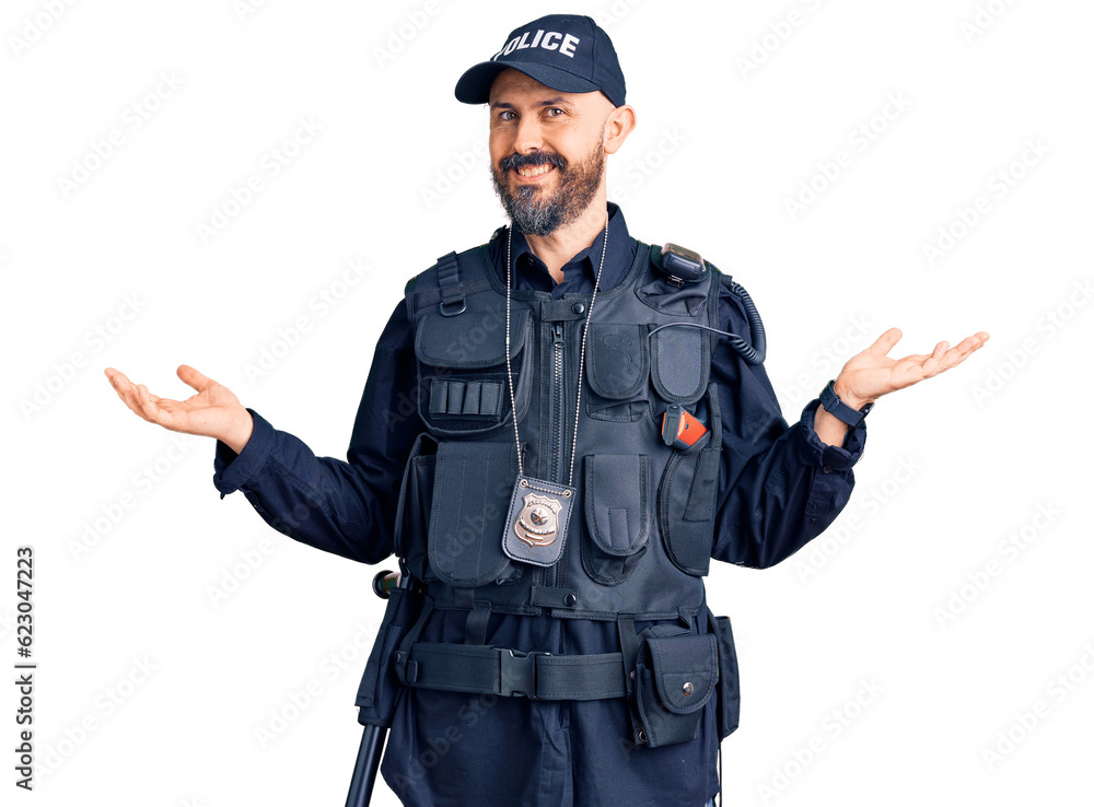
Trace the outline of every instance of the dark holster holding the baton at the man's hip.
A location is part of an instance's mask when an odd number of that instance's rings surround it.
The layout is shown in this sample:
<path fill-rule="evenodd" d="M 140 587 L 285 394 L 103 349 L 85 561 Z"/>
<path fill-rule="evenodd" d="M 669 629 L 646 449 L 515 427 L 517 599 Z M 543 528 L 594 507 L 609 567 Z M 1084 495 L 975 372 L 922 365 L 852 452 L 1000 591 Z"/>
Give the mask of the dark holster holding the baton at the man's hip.
<path fill-rule="evenodd" d="M 395 699 L 403 685 L 395 676 L 395 651 L 403 636 L 414 625 L 421 612 L 422 596 L 409 588 L 395 588 L 387 600 L 387 610 L 372 646 L 369 663 L 357 690 L 358 723 L 391 726 Z"/>

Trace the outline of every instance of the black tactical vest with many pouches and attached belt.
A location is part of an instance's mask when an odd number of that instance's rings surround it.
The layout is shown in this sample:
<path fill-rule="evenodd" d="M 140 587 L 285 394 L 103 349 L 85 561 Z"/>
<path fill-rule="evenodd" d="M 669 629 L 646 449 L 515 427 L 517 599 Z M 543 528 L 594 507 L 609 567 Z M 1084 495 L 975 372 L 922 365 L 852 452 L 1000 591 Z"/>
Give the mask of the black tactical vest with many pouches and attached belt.
<path fill-rule="evenodd" d="M 449 645 L 455 650 L 445 651 L 415 644 L 417 632 L 409 623 L 420 625 L 430 609 L 470 613 L 488 603 L 494 612 L 621 621 L 620 653 L 604 654 L 606 666 L 589 675 L 613 679 L 610 693 L 633 702 L 635 741 L 690 739 L 698 711 L 719 678 L 720 734 L 736 726 L 729 620 L 710 615 L 701 580 L 710 562 L 722 442 L 710 378 L 718 337 L 697 327 L 660 327 L 686 323 L 717 329 L 721 274 L 708 264 L 698 282 L 674 284 L 656 266 L 659 256 L 659 247 L 639 243 L 622 281 L 597 292 L 591 323 L 591 294 L 552 300 L 548 292 L 514 290 L 509 318 L 512 395 L 505 367 L 505 285 L 488 247 L 444 256 L 408 283 L 417 406 L 426 431 L 404 475 L 395 546 L 426 613 L 407 603 L 388 608 L 370 660 L 372 678 L 366 669 L 358 698 L 361 722 L 384 720 L 380 701 L 391 697 L 376 685 L 377 678 L 381 685 L 392 682 L 385 677 L 388 665 L 404 686 L 486 687 L 500 694 L 575 699 L 606 691 L 556 676 L 554 690 L 544 685 L 533 693 L 526 690 L 538 686 L 535 670 L 507 655 L 499 674 L 499 662 L 490 655 L 497 648 L 481 648 L 479 659 L 470 657 L 480 652 L 475 647 Z M 561 558 L 546 568 L 514 561 L 502 549 L 517 473 L 513 419 L 520 426 L 524 473 L 567 482 L 586 329 L 573 457 L 577 496 Z M 683 451 L 662 437 L 662 418 L 672 405 L 707 429 Z M 409 601 L 409 595 L 397 596 Z M 653 632 L 664 635 L 635 636 L 636 621 L 653 620 L 675 620 L 675 625 Z M 469 618 L 468 624 L 473 622 Z M 521 656 L 522 648 L 510 650 Z M 662 658 L 659 669 L 656 656 Z M 531 666 L 543 675 L 560 658 L 533 659 Z M 643 675 L 672 680 L 657 680 L 664 702 L 647 704 L 644 711 Z M 680 694 L 680 687 L 688 691 Z M 654 689 L 651 678 L 647 699 Z"/>

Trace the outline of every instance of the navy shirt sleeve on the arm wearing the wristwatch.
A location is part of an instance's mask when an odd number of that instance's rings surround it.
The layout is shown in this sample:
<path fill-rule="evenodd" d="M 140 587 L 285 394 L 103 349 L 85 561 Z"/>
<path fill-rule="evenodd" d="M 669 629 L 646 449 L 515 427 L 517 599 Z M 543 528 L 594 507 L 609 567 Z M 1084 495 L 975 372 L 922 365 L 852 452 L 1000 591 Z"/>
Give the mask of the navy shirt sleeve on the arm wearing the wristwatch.
<path fill-rule="evenodd" d="M 724 330 L 749 332 L 740 301 L 724 283 L 719 316 Z M 865 444 L 865 423 L 849 429 L 842 446 L 826 445 L 813 428 L 821 404 L 814 398 L 801 420 L 789 425 L 767 371 L 747 364 L 724 339 L 715 348 L 711 372 L 722 420 L 711 557 L 771 566 L 819 535 L 847 504 L 854 487 L 851 467 Z"/>

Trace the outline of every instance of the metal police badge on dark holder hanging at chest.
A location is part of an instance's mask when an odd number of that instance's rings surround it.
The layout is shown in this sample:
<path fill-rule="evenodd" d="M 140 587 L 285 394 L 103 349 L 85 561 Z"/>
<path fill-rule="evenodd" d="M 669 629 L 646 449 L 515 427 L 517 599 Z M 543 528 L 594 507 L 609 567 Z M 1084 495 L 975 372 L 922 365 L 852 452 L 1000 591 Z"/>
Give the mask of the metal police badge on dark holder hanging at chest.
<path fill-rule="evenodd" d="M 505 554 L 537 566 L 557 563 L 577 492 L 560 482 L 517 476 L 501 542 Z"/>

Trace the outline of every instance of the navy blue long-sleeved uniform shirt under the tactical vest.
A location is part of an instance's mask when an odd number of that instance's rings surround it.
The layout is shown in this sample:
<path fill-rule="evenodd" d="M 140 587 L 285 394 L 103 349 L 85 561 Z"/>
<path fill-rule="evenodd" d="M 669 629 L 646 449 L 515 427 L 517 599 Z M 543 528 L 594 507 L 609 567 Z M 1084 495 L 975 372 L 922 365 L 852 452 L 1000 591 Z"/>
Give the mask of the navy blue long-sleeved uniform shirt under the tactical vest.
<path fill-rule="evenodd" d="M 601 289 L 622 280 L 637 249 L 622 212 L 614 203 L 608 211 Z M 504 231 L 494 235 L 489 255 L 504 281 Z M 514 232 L 514 286 L 555 297 L 592 292 L 603 239 L 602 232 L 556 283 Z M 743 309 L 724 284 L 719 319 L 722 330 L 748 338 Z M 847 504 L 865 425 L 848 430 L 841 446 L 822 443 L 813 429 L 818 398 L 789 425 L 764 366 L 745 363 L 724 338 L 714 348 L 711 378 L 723 435 L 711 557 L 769 566 L 818 535 Z M 236 455 L 217 443 L 213 483 L 222 498 L 242 490 L 270 526 L 295 540 L 379 563 L 394 552 L 403 470 L 423 431 L 415 386 L 414 334 L 399 301 L 376 343 L 346 461 L 316 457 L 249 410 L 254 432 L 243 451 Z M 434 611 L 420 640 L 463 642 L 464 624 L 463 613 Z M 616 630 L 614 622 L 493 613 L 487 644 L 610 653 L 619 650 Z M 408 805 L 701 805 L 718 791 L 714 706 L 711 699 L 691 742 L 639 748 L 625 740 L 630 728 L 621 699 L 484 700 L 412 689 L 396 709 L 382 772 Z"/>

